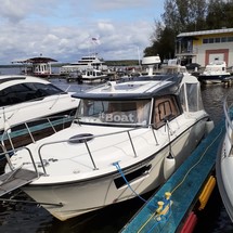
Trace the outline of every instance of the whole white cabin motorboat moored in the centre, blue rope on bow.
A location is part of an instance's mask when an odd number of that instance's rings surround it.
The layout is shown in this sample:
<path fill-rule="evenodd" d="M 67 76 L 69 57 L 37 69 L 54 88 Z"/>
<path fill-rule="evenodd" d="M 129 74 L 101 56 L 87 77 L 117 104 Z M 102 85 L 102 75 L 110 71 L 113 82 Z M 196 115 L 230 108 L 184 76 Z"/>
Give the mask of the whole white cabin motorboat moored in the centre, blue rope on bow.
<path fill-rule="evenodd" d="M 158 187 L 212 124 L 191 75 L 130 77 L 74 96 L 70 127 L 11 152 L 5 167 L 36 170 L 22 190 L 62 221 Z"/>

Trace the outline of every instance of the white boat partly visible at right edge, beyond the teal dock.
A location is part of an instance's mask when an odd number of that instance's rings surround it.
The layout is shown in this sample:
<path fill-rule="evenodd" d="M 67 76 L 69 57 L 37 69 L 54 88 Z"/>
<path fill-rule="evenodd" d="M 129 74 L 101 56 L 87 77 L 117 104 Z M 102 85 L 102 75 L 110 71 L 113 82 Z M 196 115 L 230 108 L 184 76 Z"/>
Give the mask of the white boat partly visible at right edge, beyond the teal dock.
<path fill-rule="evenodd" d="M 216 176 L 222 202 L 233 222 L 233 108 L 224 100 L 225 134 L 216 159 Z"/>

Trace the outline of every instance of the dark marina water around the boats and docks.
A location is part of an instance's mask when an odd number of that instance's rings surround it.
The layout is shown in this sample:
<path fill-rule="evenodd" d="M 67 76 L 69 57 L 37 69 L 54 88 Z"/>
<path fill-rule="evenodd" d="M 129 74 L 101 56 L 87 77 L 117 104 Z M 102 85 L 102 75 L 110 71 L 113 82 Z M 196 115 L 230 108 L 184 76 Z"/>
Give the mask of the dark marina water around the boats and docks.
<path fill-rule="evenodd" d="M 1 74 L 18 74 L 17 69 L 12 72 L 9 69 L 1 70 Z M 68 88 L 69 91 L 80 91 L 89 88 L 88 86 L 79 86 L 76 83 L 66 83 L 65 80 L 51 80 L 63 90 Z M 206 86 L 202 89 L 204 106 L 216 124 L 223 116 L 222 103 L 228 92 L 233 93 L 233 87 L 225 88 L 221 85 Z M 12 193 L 7 198 L 12 197 Z M 147 195 L 150 197 L 150 195 Z M 18 193 L 17 198 L 28 199 L 24 193 Z M 94 198 L 94 194 L 93 194 Z M 133 215 L 142 207 L 141 199 L 131 199 L 122 204 L 109 206 L 100 211 L 88 213 L 78 218 L 61 222 L 48 213 L 43 208 L 36 205 L 21 203 L 0 203 L 0 232 L 2 233 L 115 233 L 118 232 L 133 217 Z M 233 223 L 231 222 L 221 197 L 216 186 L 210 200 L 206 208 L 198 212 L 198 224 L 195 233 L 225 233 L 233 232 Z"/>

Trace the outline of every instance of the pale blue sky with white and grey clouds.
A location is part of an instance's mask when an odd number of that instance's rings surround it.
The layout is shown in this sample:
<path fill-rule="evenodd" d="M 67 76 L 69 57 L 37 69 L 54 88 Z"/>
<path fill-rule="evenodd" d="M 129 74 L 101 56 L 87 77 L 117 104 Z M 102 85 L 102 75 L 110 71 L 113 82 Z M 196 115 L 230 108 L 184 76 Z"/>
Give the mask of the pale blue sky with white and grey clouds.
<path fill-rule="evenodd" d="M 92 53 L 138 60 L 163 13 L 164 0 L 1 0 L 0 64 L 35 56 L 69 63 Z"/>

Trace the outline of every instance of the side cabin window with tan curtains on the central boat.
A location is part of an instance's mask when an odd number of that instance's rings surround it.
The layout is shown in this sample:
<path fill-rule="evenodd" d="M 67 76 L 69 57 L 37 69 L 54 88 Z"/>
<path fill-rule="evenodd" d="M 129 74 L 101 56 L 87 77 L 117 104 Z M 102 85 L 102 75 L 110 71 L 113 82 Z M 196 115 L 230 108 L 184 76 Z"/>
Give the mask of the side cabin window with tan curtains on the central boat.
<path fill-rule="evenodd" d="M 155 108 L 153 115 L 153 124 L 155 128 L 164 126 L 166 119 L 171 120 L 179 115 L 180 109 L 173 95 L 167 95 L 155 100 Z"/>

